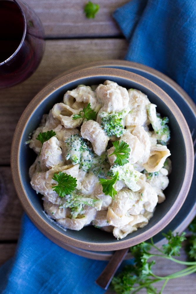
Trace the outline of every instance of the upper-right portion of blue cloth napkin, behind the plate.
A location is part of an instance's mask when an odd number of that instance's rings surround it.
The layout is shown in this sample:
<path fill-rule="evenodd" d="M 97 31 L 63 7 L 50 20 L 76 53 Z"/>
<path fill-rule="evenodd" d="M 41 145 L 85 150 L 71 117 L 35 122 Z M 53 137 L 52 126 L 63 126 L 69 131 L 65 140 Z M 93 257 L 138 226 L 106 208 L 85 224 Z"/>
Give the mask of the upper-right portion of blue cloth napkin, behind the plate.
<path fill-rule="evenodd" d="M 129 42 L 125 59 L 166 74 L 196 103 L 196 1 L 132 0 L 113 17 Z"/>

